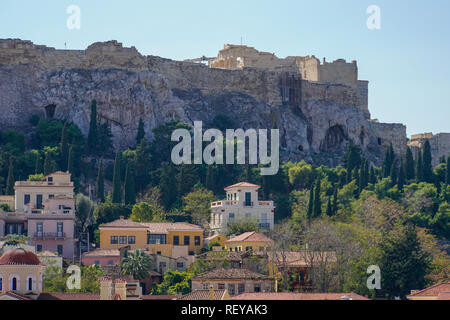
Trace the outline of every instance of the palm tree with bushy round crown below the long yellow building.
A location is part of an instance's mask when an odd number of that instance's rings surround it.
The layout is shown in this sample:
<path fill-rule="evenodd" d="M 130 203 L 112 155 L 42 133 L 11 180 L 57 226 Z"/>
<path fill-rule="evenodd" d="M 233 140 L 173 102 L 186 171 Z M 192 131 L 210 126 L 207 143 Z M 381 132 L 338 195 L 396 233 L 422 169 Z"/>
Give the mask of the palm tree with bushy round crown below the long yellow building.
<path fill-rule="evenodd" d="M 143 250 L 128 253 L 122 259 L 121 271 L 122 275 L 133 276 L 136 280 L 147 279 L 149 272 L 152 270 L 152 258 Z"/>

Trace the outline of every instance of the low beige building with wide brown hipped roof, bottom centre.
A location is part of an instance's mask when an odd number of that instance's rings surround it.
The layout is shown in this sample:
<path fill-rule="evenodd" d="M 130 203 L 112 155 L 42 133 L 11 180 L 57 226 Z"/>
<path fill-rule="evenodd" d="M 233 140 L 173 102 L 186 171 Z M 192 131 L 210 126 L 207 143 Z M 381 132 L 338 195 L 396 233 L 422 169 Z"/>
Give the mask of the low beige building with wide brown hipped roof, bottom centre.
<path fill-rule="evenodd" d="M 214 269 L 195 276 L 192 280 L 192 291 L 195 290 L 228 290 L 230 295 L 244 292 L 272 292 L 274 280 L 269 276 L 252 272 L 243 268 Z"/>

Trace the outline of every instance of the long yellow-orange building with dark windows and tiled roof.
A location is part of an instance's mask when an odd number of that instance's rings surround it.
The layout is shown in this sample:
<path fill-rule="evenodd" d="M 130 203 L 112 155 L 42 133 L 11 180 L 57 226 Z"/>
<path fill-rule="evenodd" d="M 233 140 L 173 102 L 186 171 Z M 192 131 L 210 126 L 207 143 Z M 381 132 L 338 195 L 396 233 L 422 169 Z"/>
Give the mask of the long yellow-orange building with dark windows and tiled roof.
<path fill-rule="evenodd" d="M 100 229 L 100 248 L 144 249 L 167 257 L 193 255 L 203 247 L 203 229 L 185 222 L 134 222 L 121 217 Z"/>

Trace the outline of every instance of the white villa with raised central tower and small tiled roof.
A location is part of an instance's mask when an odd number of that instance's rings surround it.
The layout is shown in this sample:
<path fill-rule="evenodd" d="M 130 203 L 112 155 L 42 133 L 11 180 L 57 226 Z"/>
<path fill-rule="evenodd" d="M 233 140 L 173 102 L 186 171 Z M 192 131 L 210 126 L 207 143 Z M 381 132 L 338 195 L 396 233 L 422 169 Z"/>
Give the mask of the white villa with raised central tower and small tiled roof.
<path fill-rule="evenodd" d="M 211 230 L 225 232 L 230 223 L 239 220 L 254 220 L 263 229 L 273 229 L 273 201 L 258 200 L 260 186 L 240 182 L 226 187 L 226 199 L 211 203 Z"/>

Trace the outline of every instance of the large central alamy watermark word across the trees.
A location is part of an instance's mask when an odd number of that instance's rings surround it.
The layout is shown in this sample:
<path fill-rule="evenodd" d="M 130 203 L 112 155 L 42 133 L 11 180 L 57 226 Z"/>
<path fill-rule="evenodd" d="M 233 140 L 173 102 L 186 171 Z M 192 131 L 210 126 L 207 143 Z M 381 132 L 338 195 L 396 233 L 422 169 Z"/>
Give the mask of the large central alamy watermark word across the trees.
<path fill-rule="evenodd" d="M 202 122 L 194 121 L 194 159 L 192 159 L 191 133 L 187 129 L 176 129 L 172 132 L 171 140 L 179 141 L 172 149 L 171 159 L 179 164 L 224 164 L 223 144 L 226 144 L 226 164 L 235 163 L 234 150 L 237 149 L 236 163 L 261 164 L 261 175 L 277 174 L 280 166 L 280 134 L 278 129 L 270 129 L 270 156 L 268 155 L 267 129 L 226 129 L 225 138 L 222 131 L 208 129 L 203 133 Z M 246 138 L 248 152 L 246 152 Z M 180 141 L 181 139 L 181 141 Z M 203 150 L 203 142 L 211 142 Z M 235 148 L 236 147 L 236 148 Z"/>

